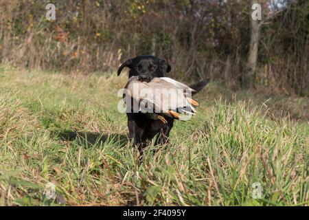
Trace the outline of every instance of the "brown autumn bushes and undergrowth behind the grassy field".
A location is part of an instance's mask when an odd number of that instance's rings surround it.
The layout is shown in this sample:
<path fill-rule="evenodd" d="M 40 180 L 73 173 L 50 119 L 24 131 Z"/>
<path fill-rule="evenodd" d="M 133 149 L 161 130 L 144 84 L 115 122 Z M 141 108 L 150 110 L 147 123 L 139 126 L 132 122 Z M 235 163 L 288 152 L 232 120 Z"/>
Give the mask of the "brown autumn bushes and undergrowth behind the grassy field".
<path fill-rule="evenodd" d="M 262 21 L 253 73 L 248 56 L 255 1 L 54 1 L 54 22 L 45 19 L 47 0 L 0 2 L 2 62 L 108 72 L 126 58 L 154 54 L 170 61 L 180 80 L 220 79 L 232 89 L 308 95 L 306 0 L 256 1 Z"/>

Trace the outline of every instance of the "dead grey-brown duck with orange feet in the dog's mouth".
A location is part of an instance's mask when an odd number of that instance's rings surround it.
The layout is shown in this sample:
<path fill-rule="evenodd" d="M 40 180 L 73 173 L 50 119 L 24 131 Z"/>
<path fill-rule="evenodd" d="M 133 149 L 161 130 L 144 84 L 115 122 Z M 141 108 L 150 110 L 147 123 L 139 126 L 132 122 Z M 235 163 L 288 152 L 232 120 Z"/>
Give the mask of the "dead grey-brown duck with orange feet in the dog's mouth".
<path fill-rule="evenodd" d="M 187 120 L 195 114 L 198 105 L 191 98 L 194 89 L 172 78 L 153 78 L 150 83 L 132 76 L 126 84 L 124 99 L 128 111 L 146 113 L 152 120 L 167 123 L 164 116 Z"/>

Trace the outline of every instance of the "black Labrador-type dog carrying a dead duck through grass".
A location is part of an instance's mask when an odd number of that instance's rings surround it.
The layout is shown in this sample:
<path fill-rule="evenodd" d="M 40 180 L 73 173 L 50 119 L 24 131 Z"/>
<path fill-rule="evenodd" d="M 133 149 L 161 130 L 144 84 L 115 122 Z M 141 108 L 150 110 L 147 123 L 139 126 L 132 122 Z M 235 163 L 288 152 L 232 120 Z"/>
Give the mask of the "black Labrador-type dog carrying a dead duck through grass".
<path fill-rule="evenodd" d="M 122 63 L 117 71 L 118 76 L 124 67 L 130 68 L 129 78 L 131 76 L 138 76 L 139 80 L 148 83 L 152 78 L 165 76 L 165 74 L 172 69 L 170 64 L 164 59 L 150 55 L 137 56 Z M 197 93 L 203 89 L 207 83 L 207 81 L 203 80 L 191 85 L 190 87 L 196 91 L 195 93 Z M 152 140 L 157 134 L 159 134 L 159 136 L 156 140 L 156 144 L 168 143 L 170 130 L 174 124 L 173 118 L 165 117 L 165 120 L 167 120 L 168 123 L 164 124 L 161 120 L 152 120 L 148 118 L 145 113 L 126 114 L 128 116 L 129 137 L 133 138 L 134 145 L 137 146 L 140 151 L 146 146 L 146 141 Z"/>

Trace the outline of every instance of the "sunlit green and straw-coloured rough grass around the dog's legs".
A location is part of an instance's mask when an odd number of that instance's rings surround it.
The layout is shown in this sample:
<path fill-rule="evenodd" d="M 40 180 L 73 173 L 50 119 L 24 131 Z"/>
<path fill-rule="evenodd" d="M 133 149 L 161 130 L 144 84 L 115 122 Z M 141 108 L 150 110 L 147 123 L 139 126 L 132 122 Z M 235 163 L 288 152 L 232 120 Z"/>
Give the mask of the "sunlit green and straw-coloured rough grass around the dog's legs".
<path fill-rule="evenodd" d="M 308 98 L 211 83 L 139 163 L 117 111 L 125 82 L 1 66 L 0 205 L 308 206 Z"/>

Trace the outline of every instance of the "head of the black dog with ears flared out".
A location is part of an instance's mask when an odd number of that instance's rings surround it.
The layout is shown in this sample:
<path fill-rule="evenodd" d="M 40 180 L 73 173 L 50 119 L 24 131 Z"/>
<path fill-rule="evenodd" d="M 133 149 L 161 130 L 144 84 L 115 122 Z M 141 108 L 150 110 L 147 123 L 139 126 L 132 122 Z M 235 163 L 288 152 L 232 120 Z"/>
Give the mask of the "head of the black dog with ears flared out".
<path fill-rule="evenodd" d="M 143 55 L 137 56 L 122 63 L 119 67 L 117 74 L 122 72 L 124 67 L 130 68 L 129 78 L 137 76 L 139 80 L 150 82 L 152 78 L 163 77 L 165 72 L 170 72 L 172 67 L 164 59 L 157 58 L 156 56 Z M 166 69 L 165 69 L 166 67 Z"/>

